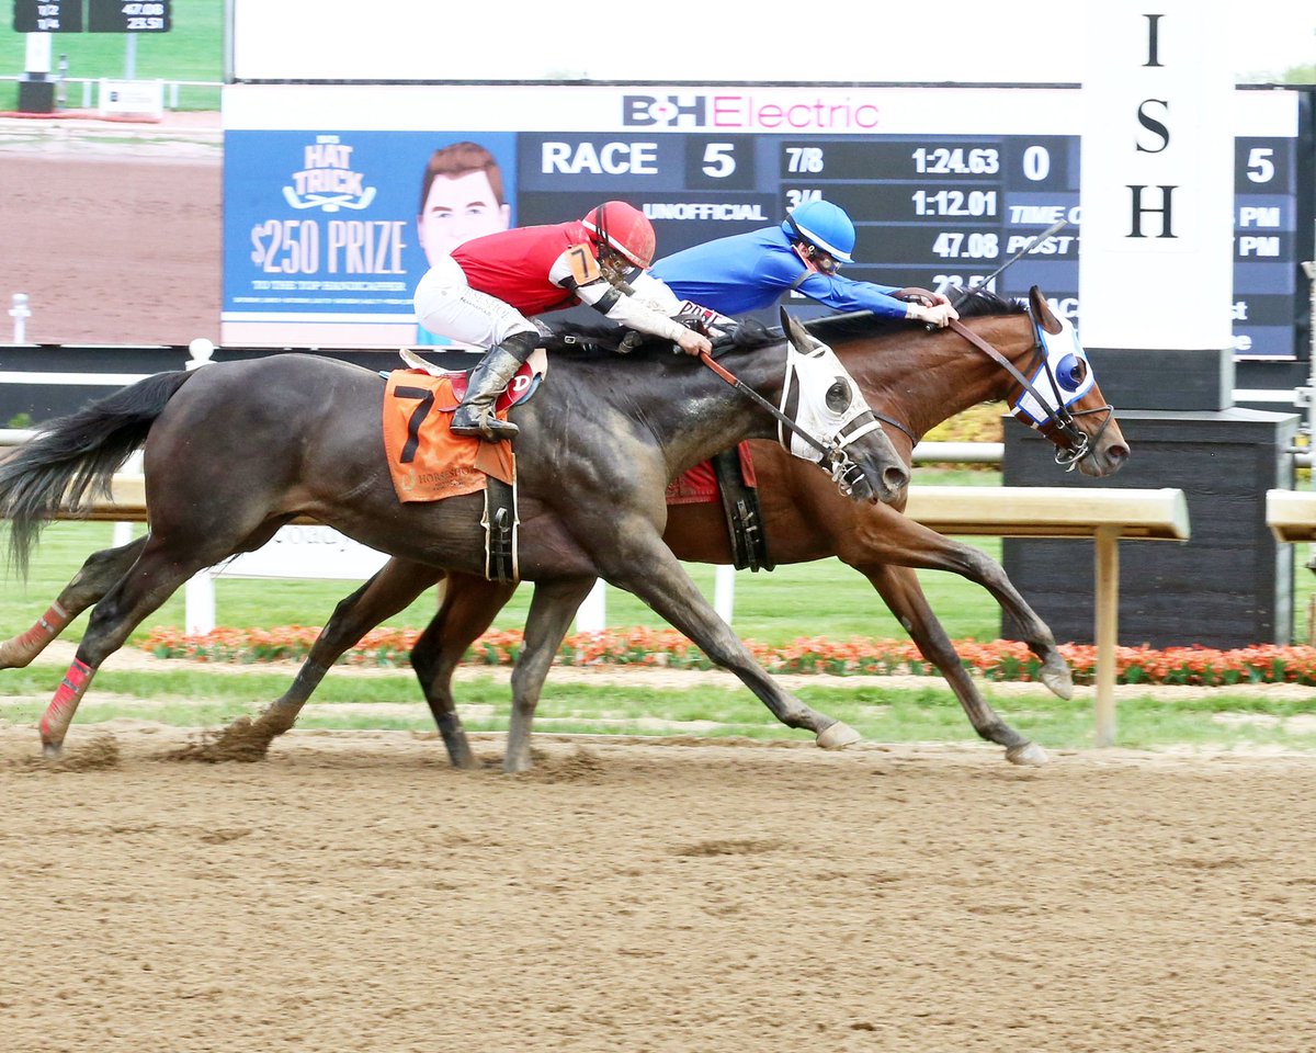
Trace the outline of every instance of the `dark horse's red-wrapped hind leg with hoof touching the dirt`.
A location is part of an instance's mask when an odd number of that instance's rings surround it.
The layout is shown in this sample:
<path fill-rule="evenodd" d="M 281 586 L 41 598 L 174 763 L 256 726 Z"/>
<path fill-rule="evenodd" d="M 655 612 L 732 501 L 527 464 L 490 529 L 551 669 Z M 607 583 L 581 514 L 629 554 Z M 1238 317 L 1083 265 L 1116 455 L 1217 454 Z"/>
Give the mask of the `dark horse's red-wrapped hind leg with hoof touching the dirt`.
<path fill-rule="evenodd" d="M 59 756 L 68 725 L 78 711 L 78 703 L 87 694 L 101 663 L 118 650 L 142 619 L 158 609 L 179 586 L 199 570 L 222 559 L 225 554 L 208 553 L 209 558 L 199 558 L 195 549 L 193 553 L 188 553 L 180 546 L 147 540 L 137 562 L 92 609 L 78 653 L 54 699 L 46 707 L 41 719 L 41 742 L 47 757 Z"/>

